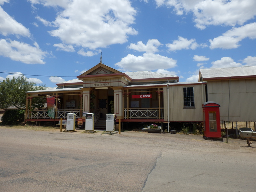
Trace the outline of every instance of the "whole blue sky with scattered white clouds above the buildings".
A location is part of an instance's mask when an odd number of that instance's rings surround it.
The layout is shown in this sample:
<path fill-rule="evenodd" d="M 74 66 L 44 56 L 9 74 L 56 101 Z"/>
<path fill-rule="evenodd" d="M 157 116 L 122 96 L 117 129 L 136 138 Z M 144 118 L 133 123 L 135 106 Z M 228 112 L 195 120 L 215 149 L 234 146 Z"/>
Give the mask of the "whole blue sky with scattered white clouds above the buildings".
<path fill-rule="evenodd" d="M 0 81 L 55 87 L 102 62 L 197 82 L 256 65 L 255 0 L 0 0 Z"/>

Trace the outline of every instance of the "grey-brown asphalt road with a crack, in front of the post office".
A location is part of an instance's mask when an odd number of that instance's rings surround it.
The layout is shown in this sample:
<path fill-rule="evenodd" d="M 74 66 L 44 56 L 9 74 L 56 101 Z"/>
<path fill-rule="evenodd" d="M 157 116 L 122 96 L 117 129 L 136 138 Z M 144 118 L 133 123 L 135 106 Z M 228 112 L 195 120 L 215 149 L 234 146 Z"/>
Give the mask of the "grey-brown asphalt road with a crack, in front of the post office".
<path fill-rule="evenodd" d="M 0 128 L 1 192 L 256 191 L 256 143 Z"/>

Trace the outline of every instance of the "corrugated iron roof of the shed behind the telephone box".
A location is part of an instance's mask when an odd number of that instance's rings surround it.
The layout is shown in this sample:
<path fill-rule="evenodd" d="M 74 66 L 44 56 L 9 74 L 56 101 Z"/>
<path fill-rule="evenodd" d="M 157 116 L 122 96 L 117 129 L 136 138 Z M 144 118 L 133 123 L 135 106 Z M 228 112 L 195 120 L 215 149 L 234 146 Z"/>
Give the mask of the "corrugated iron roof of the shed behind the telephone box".
<path fill-rule="evenodd" d="M 203 79 L 221 77 L 255 76 L 256 66 L 200 69 Z"/>

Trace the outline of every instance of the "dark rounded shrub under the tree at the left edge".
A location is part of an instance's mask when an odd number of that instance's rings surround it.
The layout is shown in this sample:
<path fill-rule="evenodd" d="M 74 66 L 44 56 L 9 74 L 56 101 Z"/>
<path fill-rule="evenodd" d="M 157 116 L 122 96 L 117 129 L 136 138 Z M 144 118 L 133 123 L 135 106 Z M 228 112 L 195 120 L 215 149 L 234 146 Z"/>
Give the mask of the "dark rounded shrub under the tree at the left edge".
<path fill-rule="evenodd" d="M 4 125 L 18 125 L 21 122 L 24 122 L 25 110 L 8 110 L 4 113 L 1 118 L 2 124 Z"/>

